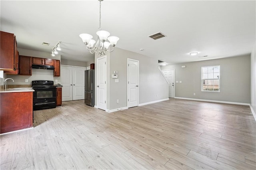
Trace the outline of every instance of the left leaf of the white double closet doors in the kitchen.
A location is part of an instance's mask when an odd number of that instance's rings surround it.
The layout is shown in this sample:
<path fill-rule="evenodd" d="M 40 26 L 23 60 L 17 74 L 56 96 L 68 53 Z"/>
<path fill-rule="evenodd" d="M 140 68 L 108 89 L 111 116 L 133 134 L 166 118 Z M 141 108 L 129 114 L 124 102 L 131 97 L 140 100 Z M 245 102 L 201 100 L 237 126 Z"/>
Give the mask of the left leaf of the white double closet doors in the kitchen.
<path fill-rule="evenodd" d="M 72 67 L 61 66 L 62 101 L 70 101 L 72 97 Z"/>

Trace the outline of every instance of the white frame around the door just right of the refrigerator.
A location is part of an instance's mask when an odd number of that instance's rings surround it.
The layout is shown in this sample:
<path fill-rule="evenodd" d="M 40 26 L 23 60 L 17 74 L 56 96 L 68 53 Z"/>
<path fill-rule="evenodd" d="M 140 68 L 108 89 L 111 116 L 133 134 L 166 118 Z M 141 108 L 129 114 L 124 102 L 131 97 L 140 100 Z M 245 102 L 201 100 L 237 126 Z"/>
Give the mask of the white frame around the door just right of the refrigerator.
<path fill-rule="evenodd" d="M 107 90 L 108 90 L 108 80 L 107 80 L 107 77 L 108 77 L 108 75 L 107 75 L 107 71 L 108 71 L 108 68 L 107 68 L 107 60 L 108 60 L 108 58 L 107 58 L 107 55 L 104 55 L 104 56 L 102 56 L 102 57 L 98 57 L 97 59 L 96 59 L 96 61 L 97 61 L 97 64 L 96 64 L 96 83 L 95 83 L 95 88 L 96 88 L 96 97 L 97 97 L 97 100 L 96 100 L 96 102 L 97 102 L 97 104 L 96 105 L 94 105 L 94 107 L 96 107 L 96 108 L 98 108 L 98 104 L 99 104 L 99 89 L 98 89 L 98 87 L 97 87 L 97 85 L 98 85 L 98 60 L 100 60 L 100 59 L 103 59 L 103 58 L 106 58 L 106 76 L 105 76 L 105 80 L 106 80 L 106 90 L 105 90 L 105 100 L 106 100 L 106 109 L 104 110 L 104 111 L 106 111 L 107 110 L 107 103 L 108 103 L 108 101 L 107 101 L 107 99 L 108 99 L 108 97 L 107 97 Z M 94 75 L 95 76 L 95 75 Z M 98 109 L 100 109 L 100 108 L 98 108 Z M 102 109 L 103 110 L 103 109 Z"/>

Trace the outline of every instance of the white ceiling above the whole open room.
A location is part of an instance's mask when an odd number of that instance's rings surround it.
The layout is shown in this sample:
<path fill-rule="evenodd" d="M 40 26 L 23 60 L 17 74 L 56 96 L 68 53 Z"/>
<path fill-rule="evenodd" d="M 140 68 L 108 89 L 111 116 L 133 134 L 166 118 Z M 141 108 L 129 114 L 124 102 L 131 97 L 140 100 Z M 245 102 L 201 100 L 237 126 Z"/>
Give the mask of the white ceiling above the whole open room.
<path fill-rule="evenodd" d="M 54 45 L 62 41 L 62 59 L 94 59 L 79 34 L 88 33 L 96 39 L 98 0 L 0 3 L 1 31 L 14 33 L 18 48 L 49 52 L 50 56 Z M 167 63 L 248 54 L 256 40 L 255 26 L 256 1 L 102 2 L 102 30 L 120 38 L 116 47 Z M 167 37 L 148 37 L 157 32 Z M 192 51 L 199 53 L 190 56 Z M 208 57 L 199 58 L 202 55 Z"/>

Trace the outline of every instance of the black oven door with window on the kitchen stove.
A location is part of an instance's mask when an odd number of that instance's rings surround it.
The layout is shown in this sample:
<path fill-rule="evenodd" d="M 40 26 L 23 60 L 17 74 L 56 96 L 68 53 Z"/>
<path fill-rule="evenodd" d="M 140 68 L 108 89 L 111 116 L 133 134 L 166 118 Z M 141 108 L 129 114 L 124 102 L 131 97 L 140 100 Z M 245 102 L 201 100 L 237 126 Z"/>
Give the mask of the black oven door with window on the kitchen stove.
<path fill-rule="evenodd" d="M 33 87 L 33 103 L 56 101 L 56 87 Z"/>

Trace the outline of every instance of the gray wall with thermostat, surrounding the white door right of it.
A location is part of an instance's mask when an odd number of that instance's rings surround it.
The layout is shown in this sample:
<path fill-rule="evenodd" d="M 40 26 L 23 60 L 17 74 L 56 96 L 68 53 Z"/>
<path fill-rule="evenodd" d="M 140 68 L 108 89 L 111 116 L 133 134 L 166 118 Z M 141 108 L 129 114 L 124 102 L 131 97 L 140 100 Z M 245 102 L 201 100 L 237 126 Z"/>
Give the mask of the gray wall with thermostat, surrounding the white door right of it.
<path fill-rule="evenodd" d="M 140 61 L 139 104 L 168 99 L 168 84 L 158 69 L 158 59 L 120 48 L 115 48 L 107 55 L 107 109 L 127 106 L 127 58 Z M 119 83 L 112 79 L 114 71 L 118 71 Z M 117 99 L 119 103 L 116 103 Z"/>

